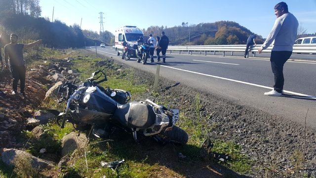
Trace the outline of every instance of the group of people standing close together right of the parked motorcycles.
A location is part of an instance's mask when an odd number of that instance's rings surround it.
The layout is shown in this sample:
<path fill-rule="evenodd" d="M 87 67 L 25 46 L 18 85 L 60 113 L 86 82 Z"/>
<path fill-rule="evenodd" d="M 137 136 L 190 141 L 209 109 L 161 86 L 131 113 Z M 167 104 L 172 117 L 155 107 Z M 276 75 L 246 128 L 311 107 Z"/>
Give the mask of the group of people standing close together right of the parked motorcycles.
<path fill-rule="evenodd" d="M 154 62 L 154 53 L 156 50 L 157 54 L 157 61 L 160 61 L 160 52 L 162 54 L 162 62 L 166 62 L 166 51 L 169 45 L 169 38 L 164 35 L 164 32 L 161 32 L 161 38 L 159 36 L 156 36 L 156 39 L 153 37 L 152 34 L 149 35 L 149 39 L 147 40 L 147 43 L 150 44 L 150 60 L 153 63 Z"/>

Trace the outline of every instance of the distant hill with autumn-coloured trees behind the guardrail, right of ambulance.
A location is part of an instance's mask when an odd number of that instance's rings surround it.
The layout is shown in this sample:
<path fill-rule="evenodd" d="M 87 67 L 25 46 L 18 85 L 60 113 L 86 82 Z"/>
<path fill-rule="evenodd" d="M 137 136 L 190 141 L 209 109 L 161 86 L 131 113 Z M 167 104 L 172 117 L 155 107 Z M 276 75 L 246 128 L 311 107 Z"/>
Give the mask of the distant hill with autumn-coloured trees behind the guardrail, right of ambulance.
<path fill-rule="evenodd" d="M 182 23 L 171 28 L 151 26 L 143 29 L 145 35 L 160 36 L 162 31 L 169 37 L 171 45 L 213 45 L 213 44 L 245 44 L 249 35 L 253 34 L 247 28 L 232 21 L 200 23 L 190 25 Z M 190 36 L 190 42 L 189 42 Z M 257 43 L 263 43 L 262 36 Z"/>

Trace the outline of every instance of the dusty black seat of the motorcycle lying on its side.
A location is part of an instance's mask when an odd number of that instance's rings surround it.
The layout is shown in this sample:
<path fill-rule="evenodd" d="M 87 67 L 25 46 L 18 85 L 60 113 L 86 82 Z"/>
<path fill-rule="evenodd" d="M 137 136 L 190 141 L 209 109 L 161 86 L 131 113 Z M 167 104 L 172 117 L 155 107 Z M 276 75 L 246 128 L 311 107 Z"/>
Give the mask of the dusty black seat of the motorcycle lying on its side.
<path fill-rule="evenodd" d="M 114 117 L 130 128 L 145 129 L 152 126 L 156 121 L 153 107 L 138 102 L 118 106 Z"/>

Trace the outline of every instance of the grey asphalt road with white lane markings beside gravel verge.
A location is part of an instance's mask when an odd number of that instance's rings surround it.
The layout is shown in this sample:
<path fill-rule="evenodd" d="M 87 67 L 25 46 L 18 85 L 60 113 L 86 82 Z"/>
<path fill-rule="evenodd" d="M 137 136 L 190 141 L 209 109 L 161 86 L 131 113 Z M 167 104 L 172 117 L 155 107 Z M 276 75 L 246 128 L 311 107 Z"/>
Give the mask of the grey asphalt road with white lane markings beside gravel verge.
<path fill-rule="evenodd" d="M 91 50 L 95 51 L 95 48 Z M 98 54 L 152 73 L 156 73 L 156 65 L 161 65 L 160 76 L 236 101 L 243 106 L 282 116 L 289 122 L 304 124 L 309 108 L 307 125 L 316 128 L 315 61 L 295 60 L 285 63 L 285 96 L 268 97 L 263 93 L 272 89 L 274 76 L 267 59 L 173 53 L 167 54 L 166 64 L 155 62 L 143 65 L 133 58 L 122 60 L 112 47 L 98 47 L 97 50 Z"/>

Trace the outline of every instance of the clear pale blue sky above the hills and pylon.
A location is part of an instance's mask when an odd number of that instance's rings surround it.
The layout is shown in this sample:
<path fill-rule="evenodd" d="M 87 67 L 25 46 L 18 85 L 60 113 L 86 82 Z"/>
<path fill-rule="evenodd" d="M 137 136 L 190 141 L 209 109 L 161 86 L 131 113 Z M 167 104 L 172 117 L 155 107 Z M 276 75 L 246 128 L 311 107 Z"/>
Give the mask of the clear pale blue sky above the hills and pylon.
<path fill-rule="evenodd" d="M 316 0 L 284 0 L 308 33 L 316 32 Z M 235 21 L 252 32 L 267 37 L 276 16 L 279 0 L 40 0 L 42 16 L 61 20 L 67 25 L 99 32 L 99 12 L 104 12 L 104 30 L 135 25 L 173 27 L 191 24 Z M 167 34 L 166 34 L 167 35 Z"/>

